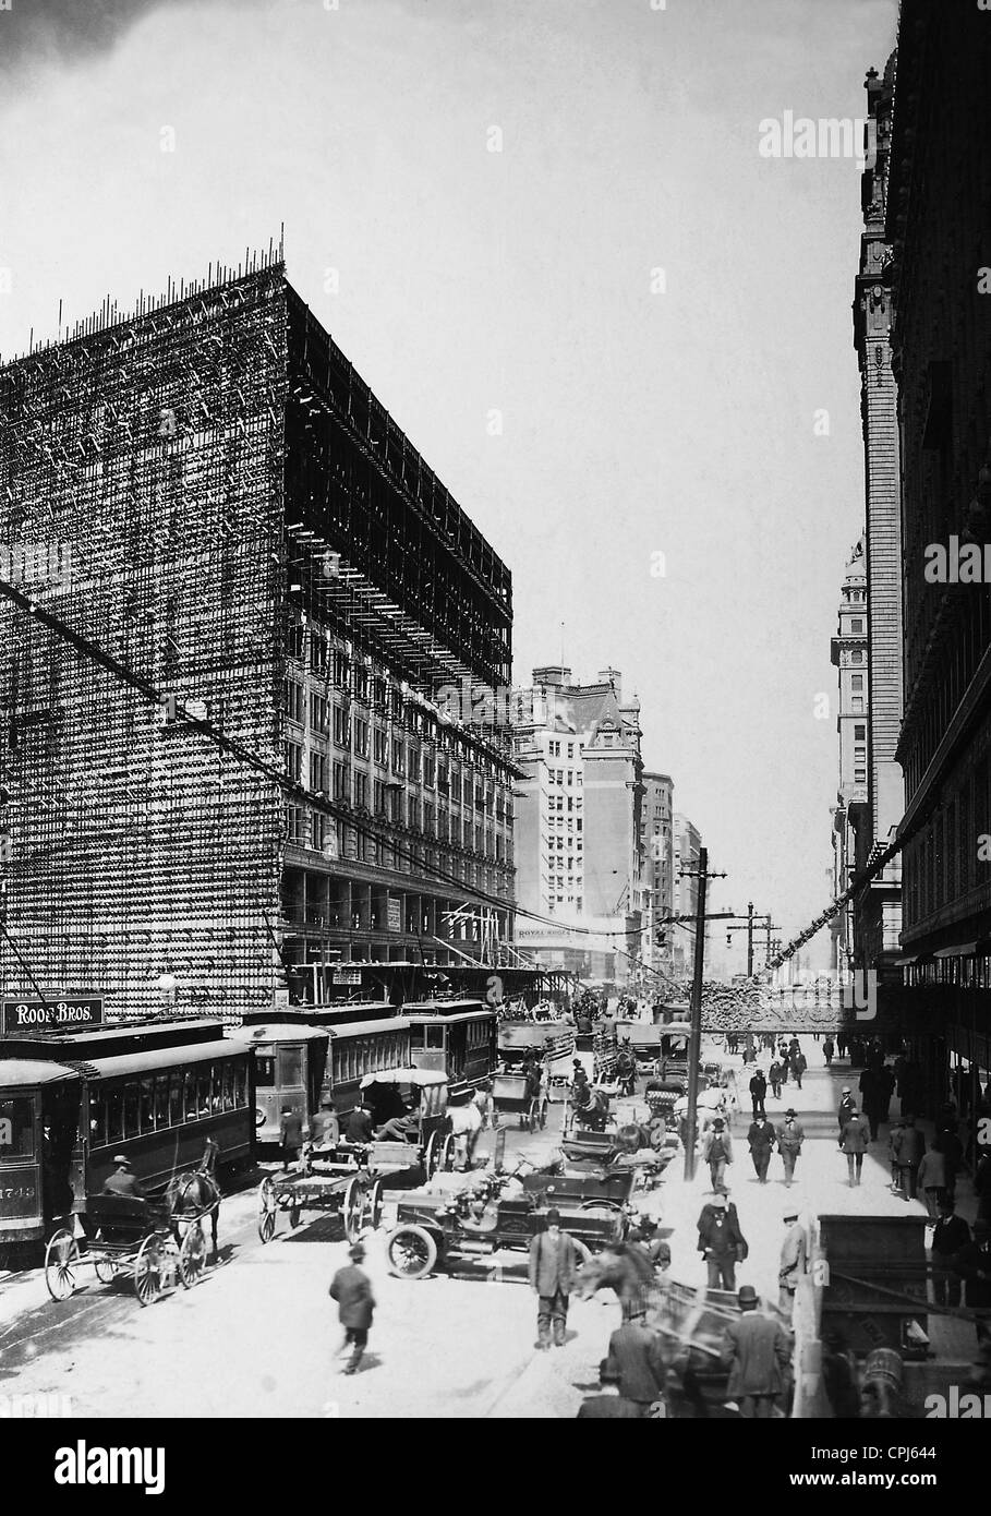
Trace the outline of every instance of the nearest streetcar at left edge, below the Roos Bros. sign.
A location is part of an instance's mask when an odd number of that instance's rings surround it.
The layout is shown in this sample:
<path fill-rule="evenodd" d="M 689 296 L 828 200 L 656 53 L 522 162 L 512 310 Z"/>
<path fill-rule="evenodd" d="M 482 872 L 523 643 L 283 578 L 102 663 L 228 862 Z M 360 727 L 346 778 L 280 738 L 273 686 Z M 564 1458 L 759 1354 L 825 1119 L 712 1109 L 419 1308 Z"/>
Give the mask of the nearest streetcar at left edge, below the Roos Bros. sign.
<path fill-rule="evenodd" d="M 253 1055 L 211 1020 L 50 1031 L 0 1041 L 0 1246 L 85 1211 L 123 1154 L 148 1190 L 255 1149 Z"/>

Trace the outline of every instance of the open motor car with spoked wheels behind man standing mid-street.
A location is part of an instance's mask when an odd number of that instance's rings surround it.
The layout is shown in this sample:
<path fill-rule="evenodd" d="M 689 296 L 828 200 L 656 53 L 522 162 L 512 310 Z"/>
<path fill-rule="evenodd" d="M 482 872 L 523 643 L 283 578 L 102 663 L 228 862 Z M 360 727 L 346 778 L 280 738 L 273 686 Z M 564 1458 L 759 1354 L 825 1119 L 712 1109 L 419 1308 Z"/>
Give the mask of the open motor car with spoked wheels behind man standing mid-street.
<path fill-rule="evenodd" d="M 426 1280 L 438 1267 L 449 1270 L 503 1251 L 529 1252 L 533 1237 L 544 1231 L 550 1208 L 561 1213 L 561 1225 L 582 1264 L 597 1249 L 624 1239 L 632 1175 L 624 1175 L 605 1193 L 599 1179 L 533 1175 L 532 1181 L 542 1182 L 517 1181 L 512 1196 L 503 1193 L 505 1175 L 486 1176 L 483 1184 L 456 1195 L 409 1195 L 400 1201 L 395 1226 L 385 1239 L 389 1273 L 400 1280 Z M 626 1198 L 618 1199 L 618 1195 Z"/>

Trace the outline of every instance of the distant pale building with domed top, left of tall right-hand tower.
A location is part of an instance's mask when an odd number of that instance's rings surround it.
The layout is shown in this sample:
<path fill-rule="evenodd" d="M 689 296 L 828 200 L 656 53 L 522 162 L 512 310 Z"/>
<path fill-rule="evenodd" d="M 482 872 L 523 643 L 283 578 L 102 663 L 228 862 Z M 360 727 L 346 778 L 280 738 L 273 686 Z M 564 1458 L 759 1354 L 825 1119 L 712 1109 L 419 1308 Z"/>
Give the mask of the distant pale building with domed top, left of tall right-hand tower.
<path fill-rule="evenodd" d="M 833 894 L 849 887 L 864 866 L 870 829 L 867 782 L 870 672 L 867 641 L 867 564 L 864 538 L 850 555 L 839 599 L 839 623 L 830 644 L 838 670 L 839 787 L 833 807 Z M 846 905 L 830 925 L 832 967 L 849 973 L 856 961 L 853 907 Z"/>

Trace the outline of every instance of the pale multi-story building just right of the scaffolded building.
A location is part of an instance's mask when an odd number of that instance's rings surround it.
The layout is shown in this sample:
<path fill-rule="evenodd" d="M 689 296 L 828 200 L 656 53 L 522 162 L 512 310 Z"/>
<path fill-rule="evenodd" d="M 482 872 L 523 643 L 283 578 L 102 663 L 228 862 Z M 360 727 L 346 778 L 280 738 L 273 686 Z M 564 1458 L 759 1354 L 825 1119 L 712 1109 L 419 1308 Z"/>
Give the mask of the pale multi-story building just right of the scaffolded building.
<path fill-rule="evenodd" d="M 517 901 L 555 920 L 521 922 L 517 941 L 542 967 L 626 981 L 641 931 L 639 703 L 615 669 L 580 685 L 561 666 L 535 669 L 517 702 Z"/>

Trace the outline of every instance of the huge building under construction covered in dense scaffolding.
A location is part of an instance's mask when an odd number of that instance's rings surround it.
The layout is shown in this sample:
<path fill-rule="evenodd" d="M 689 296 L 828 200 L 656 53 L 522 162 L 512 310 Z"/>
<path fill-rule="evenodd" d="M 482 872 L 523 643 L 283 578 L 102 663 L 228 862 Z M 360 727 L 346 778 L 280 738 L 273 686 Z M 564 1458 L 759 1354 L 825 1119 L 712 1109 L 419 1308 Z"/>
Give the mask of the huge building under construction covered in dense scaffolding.
<path fill-rule="evenodd" d="M 511 576 L 282 262 L 105 308 L 0 417 L 3 996 L 497 961 L 508 734 L 444 708 L 508 687 Z"/>

